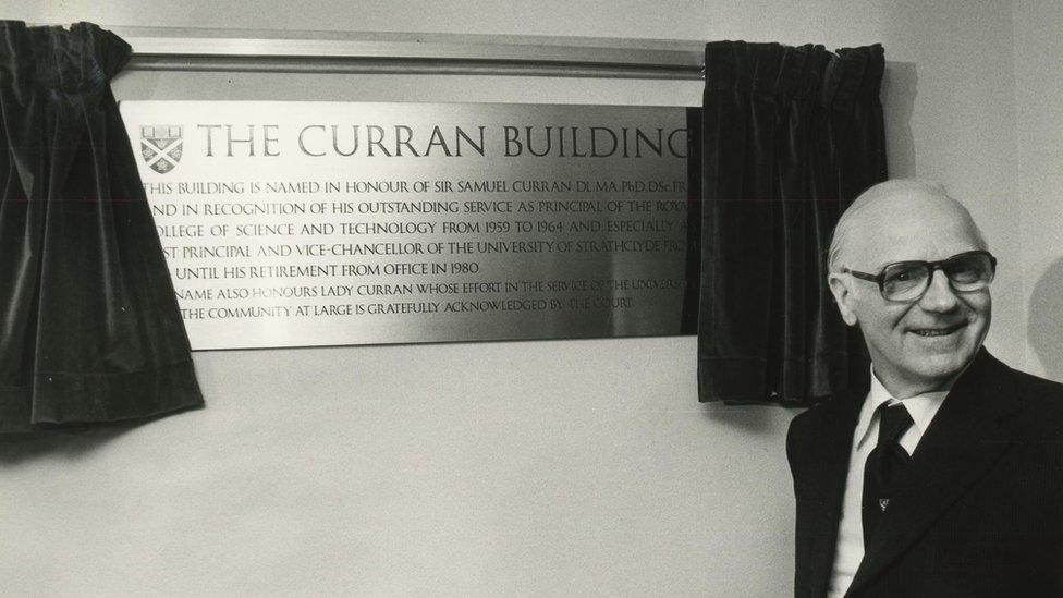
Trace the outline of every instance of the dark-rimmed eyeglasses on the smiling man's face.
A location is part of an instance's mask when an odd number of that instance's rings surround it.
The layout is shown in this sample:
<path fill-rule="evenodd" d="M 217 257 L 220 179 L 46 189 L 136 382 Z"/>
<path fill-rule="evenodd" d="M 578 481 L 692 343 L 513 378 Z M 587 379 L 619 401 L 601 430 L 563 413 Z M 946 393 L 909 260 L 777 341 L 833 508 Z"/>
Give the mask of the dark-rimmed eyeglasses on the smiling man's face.
<path fill-rule="evenodd" d="M 941 261 L 895 261 L 877 274 L 843 268 L 843 273 L 876 282 L 882 298 L 911 302 L 923 298 L 930 288 L 934 270 L 949 278 L 949 286 L 960 293 L 980 291 L 989 286 L 997 274 L 997 258 L 989 252 L 964 252 Z"/>

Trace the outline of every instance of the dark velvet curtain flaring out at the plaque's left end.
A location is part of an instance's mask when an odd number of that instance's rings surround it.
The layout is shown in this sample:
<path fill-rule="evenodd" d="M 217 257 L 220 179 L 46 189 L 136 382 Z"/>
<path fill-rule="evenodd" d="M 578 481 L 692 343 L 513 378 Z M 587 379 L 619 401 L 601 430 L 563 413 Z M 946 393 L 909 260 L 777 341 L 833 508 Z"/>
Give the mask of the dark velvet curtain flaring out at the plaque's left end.
<path fill-rule="evenodd" d="M 203 404 L 110 78 L 80 23 L 0 22 L 0 432 Z"/>

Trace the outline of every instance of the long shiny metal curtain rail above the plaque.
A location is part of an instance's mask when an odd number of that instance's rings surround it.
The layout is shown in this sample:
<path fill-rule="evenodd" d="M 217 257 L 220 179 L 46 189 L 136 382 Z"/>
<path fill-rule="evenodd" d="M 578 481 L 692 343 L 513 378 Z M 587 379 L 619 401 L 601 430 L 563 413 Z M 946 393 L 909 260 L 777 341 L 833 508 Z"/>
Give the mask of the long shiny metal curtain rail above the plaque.
<path fill-rule="evenodd" d="M 106 27 L 133 46 L 126 70 L 471 74 L 697 80 L 698 41 Z"/>

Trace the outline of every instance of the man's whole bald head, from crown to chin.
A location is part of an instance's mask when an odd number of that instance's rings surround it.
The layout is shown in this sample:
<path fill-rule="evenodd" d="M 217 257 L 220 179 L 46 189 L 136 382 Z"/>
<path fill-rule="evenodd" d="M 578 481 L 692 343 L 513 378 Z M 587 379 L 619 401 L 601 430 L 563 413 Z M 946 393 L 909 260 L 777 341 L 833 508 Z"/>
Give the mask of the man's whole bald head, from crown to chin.
<path fill-rule="evenodd" d="M 965 261 L 924 273 L 905 270 L 926 282 L 921 294 L 911 298 L 888 296 L 883 279 L 875 276 L 891 264 L 943 264 L 977 251 L 988 251 L 985 237 L 967 209 L 940 185 L 875 185 L 839 220 L 828 284 L 842 319 L 859 326 L 875 375 L 892 396 L 946 390 L 974 359 L 992 318 L 992 273 L 978 270 L 981 259 L 969 270 Z M 969 284 L 972 276 L 988 281 Z"/>

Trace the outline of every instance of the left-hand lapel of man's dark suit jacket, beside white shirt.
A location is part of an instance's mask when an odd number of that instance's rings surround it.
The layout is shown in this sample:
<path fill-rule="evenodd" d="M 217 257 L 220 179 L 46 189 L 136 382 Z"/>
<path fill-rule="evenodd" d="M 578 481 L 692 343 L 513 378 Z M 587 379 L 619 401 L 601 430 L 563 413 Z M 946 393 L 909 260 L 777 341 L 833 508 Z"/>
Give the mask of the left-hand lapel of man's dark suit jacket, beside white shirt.
<path fill-rule="evenodd" d="M 817 478 L 811 488 L 818 490 L 815 499 L 808 501 L 814 509 L 808 515 L 807 529 L 812 533 L 807 534 L 805 546 L 797 547 L 807 559 L 811 596 L 826 596 L 830 585 L 853 430 L 866 395 L 867 388 L 860 387 L 850 394 L 847 401 L 832 401 L 826 405 L 822 427 L 819 430 L 822 441 L 815 446 L 815 454 L 811 455 L 812 462 L 817 464 L 812 469 Z"/>

